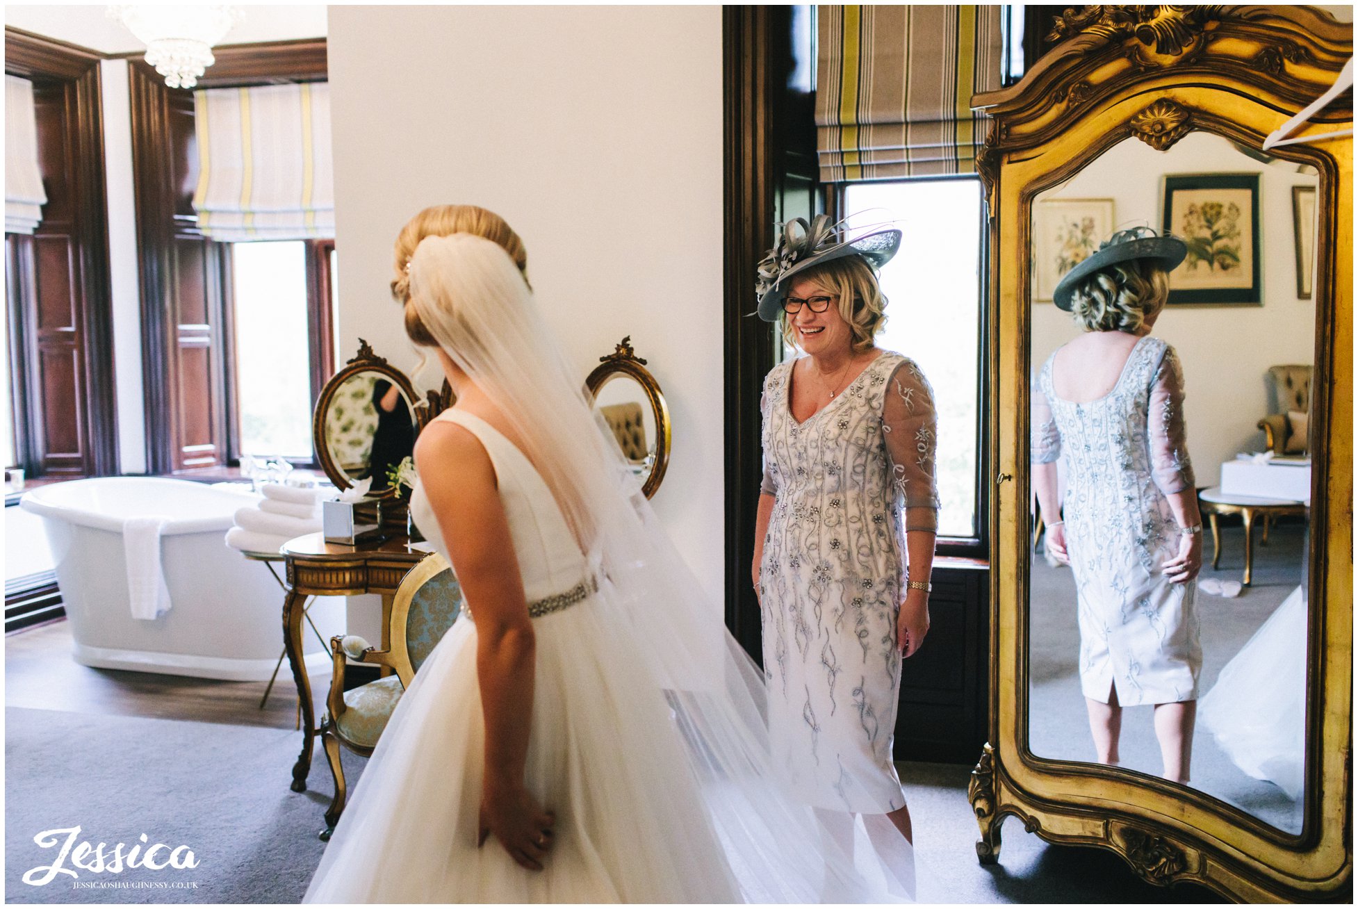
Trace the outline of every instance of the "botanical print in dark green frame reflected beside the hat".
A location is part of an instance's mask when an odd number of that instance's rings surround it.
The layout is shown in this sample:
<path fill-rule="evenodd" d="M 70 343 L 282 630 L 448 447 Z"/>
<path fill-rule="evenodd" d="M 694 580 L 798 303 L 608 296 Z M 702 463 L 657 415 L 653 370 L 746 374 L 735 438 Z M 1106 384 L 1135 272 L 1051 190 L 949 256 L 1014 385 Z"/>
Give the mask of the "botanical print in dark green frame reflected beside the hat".
<path fill-rule="evenodd" d="M 1260 303 L 1259 174 L 1165 177 L 1164 227 L 1188 245 L 1171 303 Z"/>

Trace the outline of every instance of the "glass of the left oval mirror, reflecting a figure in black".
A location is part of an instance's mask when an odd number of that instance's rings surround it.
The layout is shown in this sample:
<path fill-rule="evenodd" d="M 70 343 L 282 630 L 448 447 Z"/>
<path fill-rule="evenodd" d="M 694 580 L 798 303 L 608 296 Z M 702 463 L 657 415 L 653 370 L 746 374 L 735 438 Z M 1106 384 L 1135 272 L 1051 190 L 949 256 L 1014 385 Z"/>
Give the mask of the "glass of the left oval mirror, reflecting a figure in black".
<path fill-rule="evenodd" d="M 390 376 L 364 370 L 335 389 L 325 433 L 335 469 L 350 484 L 372 477 L 369 492 L 380 492 L 391 485 L 387 471 L 414 452 L 414 409 Z"/>

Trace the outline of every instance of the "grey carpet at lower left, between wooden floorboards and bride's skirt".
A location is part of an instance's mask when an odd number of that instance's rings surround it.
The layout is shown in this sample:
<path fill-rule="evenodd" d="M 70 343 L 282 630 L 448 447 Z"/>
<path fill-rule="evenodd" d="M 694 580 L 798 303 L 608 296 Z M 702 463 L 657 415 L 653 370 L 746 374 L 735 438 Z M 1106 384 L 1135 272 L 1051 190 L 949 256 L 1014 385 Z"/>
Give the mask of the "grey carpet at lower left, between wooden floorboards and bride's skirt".
<path fill-rule="evenodd" d="M 7 708 L 5 901 L 299 902 L 325 848 L 316 833 L 331 791 L 319 749 L 311 770 L 318 791 L 288 788 L 299 745 L 292 730 Z M 363 758 L 348 757 L 356 776 Z M 145 833 L 149 842 L 187 845 L 198 867 L 79 871 L 80 883 L 171 889 L 77 890 L 65 875 L 42 887 L 23 883 L 57 852 L 34 836 L 77 825 L 80 840 L 109 844 L 106 855 Z M 197 887 L 179 886 L 186 883 Z"/>

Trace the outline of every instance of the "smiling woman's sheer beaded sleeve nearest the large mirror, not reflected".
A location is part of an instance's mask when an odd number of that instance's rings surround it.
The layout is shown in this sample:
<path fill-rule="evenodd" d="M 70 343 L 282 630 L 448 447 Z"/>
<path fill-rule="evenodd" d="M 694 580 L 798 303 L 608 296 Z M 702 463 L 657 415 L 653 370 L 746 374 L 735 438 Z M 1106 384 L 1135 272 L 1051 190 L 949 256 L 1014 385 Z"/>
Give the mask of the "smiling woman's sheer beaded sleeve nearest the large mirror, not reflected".
<path fill-rule="evenodd" d="M 938 413 L 933 389 L 913 360 L 906 360 L 891 374 L 881 410 L 892 481 L 906 507 L 906 530 L 936 531 Z"/>

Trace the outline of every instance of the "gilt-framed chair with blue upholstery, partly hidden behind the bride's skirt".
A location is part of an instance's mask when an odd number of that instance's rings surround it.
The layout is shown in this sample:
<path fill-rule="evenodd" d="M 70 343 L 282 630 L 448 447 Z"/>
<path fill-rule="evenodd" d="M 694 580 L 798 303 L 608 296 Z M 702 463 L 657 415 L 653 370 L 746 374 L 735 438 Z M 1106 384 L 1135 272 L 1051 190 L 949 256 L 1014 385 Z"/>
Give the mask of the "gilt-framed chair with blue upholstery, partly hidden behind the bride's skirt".
<path fill-rule="evenodd" d="M 334 675 L 326 698 L 326 715 L 320 720 L 320 741 L 335 779 L 335 795 L 326 811 L 322 840 L 329 840 L 330 832 L 340 822 L 348 792 L 344 768 L 340 765 L 340 746 L 363 757 L 372 755 L 401 696 L 410 688 L 420 666 L 452 628 L 459 613 L 462 588 L 447 560 L 435 553 L 422 558 L 397 588 L 388 621 L 390 649 L 379 651 L 357 635 L 337 635 L 330 639 Z M 345 658 L 354 663 L 386 666 L 392 674 L 346 692 Z"/>

